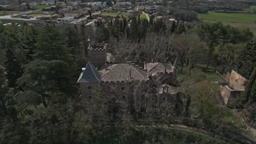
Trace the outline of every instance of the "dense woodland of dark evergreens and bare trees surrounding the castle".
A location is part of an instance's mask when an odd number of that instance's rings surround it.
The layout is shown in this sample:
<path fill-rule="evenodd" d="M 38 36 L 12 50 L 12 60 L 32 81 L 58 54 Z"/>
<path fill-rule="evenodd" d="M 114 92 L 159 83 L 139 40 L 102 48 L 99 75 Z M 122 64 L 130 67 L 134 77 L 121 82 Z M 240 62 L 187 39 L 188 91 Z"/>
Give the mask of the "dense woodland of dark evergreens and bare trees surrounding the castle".
<path fill-rule="evenodd" d="M 234 69 L 248 79 L 246 91 L 231 107 L 245 109 L 249 124 L 255 126 L 253 33 L 221 22 L 191 26 L 177 21 L 166 27 L 161 20 L 139 15 L 130 20 L 97 22 L 95 30 L 84 23 L 0 26 L 0 143 L 243 143 L 237 127 L 222 121 L 228 108 L 219 106 L 223 101 L 218 85 L 198 66 L 220 74 Z M 102 91 L 92 101 L 81 99 L 76 82 L 88 62 L 89 33 L 96 42 L 108 43 L 112 61 L 177 58 L 181 77 L 176 105 L 141 112 L 139 118 L 123 106 L 113 118 Z M 174 130 L 173 124 L 204 134 Z"/>

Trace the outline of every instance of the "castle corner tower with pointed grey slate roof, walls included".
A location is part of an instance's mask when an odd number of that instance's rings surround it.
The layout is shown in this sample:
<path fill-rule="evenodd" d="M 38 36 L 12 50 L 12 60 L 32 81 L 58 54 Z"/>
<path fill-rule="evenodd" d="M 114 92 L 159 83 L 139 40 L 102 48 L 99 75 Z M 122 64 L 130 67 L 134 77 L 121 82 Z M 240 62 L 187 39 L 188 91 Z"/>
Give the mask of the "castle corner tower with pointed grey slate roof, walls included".
<path fill-rule="evenodd" d="M 91 99 L 101 85 L 101 76 L 94 65 L 89 61 L 79 76 L 80 92 L 85 99 Z"/>

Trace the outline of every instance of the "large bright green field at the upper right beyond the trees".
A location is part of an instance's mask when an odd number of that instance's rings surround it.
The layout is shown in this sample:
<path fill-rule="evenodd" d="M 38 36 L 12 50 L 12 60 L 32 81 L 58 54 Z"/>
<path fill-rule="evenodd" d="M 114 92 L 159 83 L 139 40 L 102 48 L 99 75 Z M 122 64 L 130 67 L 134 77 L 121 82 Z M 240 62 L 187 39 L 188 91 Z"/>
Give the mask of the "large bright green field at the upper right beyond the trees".
<path fill-rule="evenodd" d="M 207 14 L 199 14 L 198 17 L 205 22 L 220 21 L 223 22 L 224 25 L 231 25 L 240 29 L 249 28 L 254 35 L 256 35 L 256 23 L 254 23 L 254 20 L 256 20 L 256 14 L 216 13 L 214 11 L 209 11 Z"/>

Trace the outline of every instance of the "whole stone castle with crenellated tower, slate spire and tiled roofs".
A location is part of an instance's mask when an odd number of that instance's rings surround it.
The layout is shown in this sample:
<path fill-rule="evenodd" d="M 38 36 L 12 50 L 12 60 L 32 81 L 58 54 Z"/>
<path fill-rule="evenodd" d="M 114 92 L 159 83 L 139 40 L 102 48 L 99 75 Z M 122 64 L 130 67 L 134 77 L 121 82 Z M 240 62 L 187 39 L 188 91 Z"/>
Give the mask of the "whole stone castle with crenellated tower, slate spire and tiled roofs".
<path fill-rule="evenodd" d="M 107 62 L 107 44 L 89 36 L 90 61 L 79 76 L 80 96 L 90 100 L 102 89 L 115 101 L 140 107 L 161 107 L 176 100 L 177 59 L 171 62 Z"/>

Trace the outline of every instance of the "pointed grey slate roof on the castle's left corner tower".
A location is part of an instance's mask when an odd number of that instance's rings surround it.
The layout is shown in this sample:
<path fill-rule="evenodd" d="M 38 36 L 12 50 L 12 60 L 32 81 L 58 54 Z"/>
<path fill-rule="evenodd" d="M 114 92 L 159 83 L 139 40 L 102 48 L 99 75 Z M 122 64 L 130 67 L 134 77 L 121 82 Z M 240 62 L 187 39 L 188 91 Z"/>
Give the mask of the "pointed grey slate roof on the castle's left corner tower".
<path fill-rule="evenodd" d="M 82 69 L 83 72 L 80 74 L 77 83 L 91 82 L 98 83 L 101 82 L 101 76 L 94 65 L 89 61 L 85 68 Z"/>

